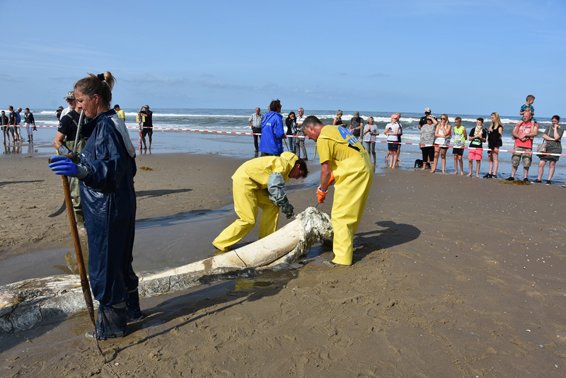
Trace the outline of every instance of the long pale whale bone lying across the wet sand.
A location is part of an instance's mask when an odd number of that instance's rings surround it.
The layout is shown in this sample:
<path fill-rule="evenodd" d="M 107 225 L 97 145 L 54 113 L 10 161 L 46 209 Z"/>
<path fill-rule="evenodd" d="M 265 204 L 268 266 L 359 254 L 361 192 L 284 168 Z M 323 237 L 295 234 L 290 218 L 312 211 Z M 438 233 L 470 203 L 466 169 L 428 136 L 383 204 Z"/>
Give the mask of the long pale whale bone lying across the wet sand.
<path fill-rule="evenodd" d="M 308 207 L 294 221 L 252 244 L 178 268 L 140 275 L 139 296 L 155 297 L 221 280 L 253 277 L 257 270 L 285 268 L 305 256 L 313 244 L 332 237 L 328 214 Z M 0 287 L 0 334 L 81 311 L 86 311 L 86 305 L 79 275 L 53 275 Z"/>

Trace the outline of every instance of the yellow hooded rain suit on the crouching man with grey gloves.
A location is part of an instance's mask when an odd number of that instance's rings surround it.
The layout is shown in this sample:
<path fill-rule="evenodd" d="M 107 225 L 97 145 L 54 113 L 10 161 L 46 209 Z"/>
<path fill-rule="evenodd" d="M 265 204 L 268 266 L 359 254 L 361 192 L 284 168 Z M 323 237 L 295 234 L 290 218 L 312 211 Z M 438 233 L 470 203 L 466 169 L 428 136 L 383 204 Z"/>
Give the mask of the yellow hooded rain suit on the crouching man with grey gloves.
<path fill-rule="evenodd" d="M 234 210 L 239 219 L 226 227 L 212 244 L 221 251 L 229 251 L 231 246 L 241 241 L 255 226 L 258 207 L 262 210 L 260 219 L 260 239 L 273 234 L 279 220 L 279 207 L 269 198 L 267 180 L 271 173 L 281 173 L 285 182 L 297 161 L 291 152 L 281 156 L 263 156 L 246 161 L 232 176 Z"/>

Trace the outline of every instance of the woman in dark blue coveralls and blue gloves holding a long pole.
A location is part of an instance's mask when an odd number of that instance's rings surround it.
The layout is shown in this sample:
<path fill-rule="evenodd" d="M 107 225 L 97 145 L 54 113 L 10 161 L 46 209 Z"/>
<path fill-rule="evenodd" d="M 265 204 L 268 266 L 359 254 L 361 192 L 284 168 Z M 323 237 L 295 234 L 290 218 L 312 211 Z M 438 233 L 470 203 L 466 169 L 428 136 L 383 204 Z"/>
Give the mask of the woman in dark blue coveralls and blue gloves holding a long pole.
<path fill-rule="evenodd" d="M 124 121 L 110 108 L 114 76 L 105 72 L 76 82 L 75 98 L 92 134 L 81 151 L 81 163 L 53 156 L 50 168 L 81 181 L 88 234 L 88 275 L 100 302 L 98 338 L 126 336 L 127 322 L 144 318 L 139 309 L 138 278 L 132 269 L 136 196 L 135 149 Z M 93 338 L 93 331 L 86 334 Z"/>

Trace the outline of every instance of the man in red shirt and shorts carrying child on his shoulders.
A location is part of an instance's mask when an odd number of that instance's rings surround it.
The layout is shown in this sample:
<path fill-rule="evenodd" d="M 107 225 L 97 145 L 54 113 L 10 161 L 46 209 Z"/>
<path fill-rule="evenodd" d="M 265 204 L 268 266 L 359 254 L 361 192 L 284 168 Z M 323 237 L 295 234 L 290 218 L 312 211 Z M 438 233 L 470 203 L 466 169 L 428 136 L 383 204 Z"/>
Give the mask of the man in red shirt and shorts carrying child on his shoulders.
<path fill-rule="evenodd" d="M 533 154 L 524 154 L 523 152 L 533 151 L 533 138 L 538 134 L 538 125 L 531 119 L 531 110 L 525 110 L 523 113 L 523 120 L 516 123 L 511 132 L 515 138 L 514 153 L 511 156 L 511 177 L 507 181 L 515 180 L 515 173 L 519 168 L 519 161 L 523 160 L 523 181 L 529 183 L 529 168 L 533 161 Z"/>

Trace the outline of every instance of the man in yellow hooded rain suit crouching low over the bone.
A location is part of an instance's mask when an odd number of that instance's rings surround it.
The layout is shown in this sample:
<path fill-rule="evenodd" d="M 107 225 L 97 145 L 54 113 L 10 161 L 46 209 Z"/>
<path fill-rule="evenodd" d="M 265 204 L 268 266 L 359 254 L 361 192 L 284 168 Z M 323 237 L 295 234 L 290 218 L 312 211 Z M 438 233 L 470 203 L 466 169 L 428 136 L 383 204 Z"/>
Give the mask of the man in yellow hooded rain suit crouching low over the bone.
<path fill-rule="evenodd" d="M 307 174 L 304 160 L 292 152 L 246 161 L 232 176 L 234 210 L 240 219 L 226 227 L 212 244 L 221 251 L 229 251 L 253 229 L 258 207 L 262 210 L 260 239 L 273 234 L 277 229 L 279 207 L 287 219 L 293 216 L 293 206 L 287 200 L 283 185 L 289 178 L 304 178 Z"/>

